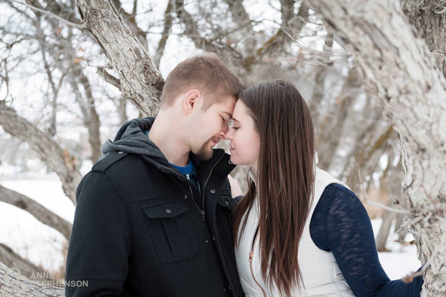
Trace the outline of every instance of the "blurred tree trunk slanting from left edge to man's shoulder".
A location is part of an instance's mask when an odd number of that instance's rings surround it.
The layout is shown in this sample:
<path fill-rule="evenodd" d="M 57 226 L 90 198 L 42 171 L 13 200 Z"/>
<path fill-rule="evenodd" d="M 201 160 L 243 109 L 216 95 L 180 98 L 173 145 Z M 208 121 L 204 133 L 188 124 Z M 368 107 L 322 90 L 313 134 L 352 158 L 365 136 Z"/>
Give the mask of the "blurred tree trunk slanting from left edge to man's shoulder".
<path fill-rule="evenodd" d="M 76 203 L 76 188 L 82 179 L 75 156 L 63 150 L 49 135 L 0 101 L 0 125 L 5 132 L 25 141 L 45 164 L 58 174 L 64 193 Z"/>

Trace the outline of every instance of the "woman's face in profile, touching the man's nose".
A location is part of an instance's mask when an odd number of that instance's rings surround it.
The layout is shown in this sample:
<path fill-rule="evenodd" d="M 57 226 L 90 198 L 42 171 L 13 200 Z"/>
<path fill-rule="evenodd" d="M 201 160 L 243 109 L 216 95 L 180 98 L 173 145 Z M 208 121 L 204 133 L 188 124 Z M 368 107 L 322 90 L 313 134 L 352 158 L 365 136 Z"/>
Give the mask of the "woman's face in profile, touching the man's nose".
<path fill-rule="evenodd" d="M 232 113 L 233 124 L 225 136 L 231 140 L 232 164 L 246 165 L 257 170 L 260 139 L 247 109 L 241 99 L 237 100 Z"/>

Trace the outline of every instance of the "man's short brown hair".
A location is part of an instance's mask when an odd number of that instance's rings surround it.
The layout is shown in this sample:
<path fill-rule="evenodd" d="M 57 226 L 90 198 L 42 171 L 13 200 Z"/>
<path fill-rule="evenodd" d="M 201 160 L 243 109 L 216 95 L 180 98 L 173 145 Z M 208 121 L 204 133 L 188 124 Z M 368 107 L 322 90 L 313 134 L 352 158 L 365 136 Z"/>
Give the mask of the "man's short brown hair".
<path fill-rule="evenodd" d="M 187 58 L 170 71 L 161 94 L 161 108 L 170 107 L 179 94 L 197 89 L 205 102 L 206 111 L 214 103 L 223 102 L 228 95 L 239 95 L 244 86 L 217 54 L 204 53 Z"/>

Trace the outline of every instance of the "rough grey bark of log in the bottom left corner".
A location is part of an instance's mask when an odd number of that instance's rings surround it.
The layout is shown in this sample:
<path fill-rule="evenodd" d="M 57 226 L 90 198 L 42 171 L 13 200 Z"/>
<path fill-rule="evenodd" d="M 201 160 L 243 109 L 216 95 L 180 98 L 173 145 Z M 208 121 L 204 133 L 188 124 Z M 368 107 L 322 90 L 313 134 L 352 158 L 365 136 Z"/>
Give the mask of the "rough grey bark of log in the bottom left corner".
<path fill-rule="evenodd" d="M 40 271 L 40 270 L 37 270 Z M 64 297 L 65 289 L 42 285 L 21 275 L 0 262 L 1 297 Z"/>

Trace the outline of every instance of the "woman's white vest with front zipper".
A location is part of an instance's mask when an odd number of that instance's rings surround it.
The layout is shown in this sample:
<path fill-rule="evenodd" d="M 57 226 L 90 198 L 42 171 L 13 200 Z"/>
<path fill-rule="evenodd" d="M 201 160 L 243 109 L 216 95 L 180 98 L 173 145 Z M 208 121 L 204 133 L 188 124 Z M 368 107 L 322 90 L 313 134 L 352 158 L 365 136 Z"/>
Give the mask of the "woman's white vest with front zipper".
<path fill-rule="evenodd" d="M 315 171 L 314 202 L 305 223 L 298 253 L 299 267 L 301 269 L 305 289 L 302 289 L 301 291 L 295 289 L 291 296 L 354 297 L 355 295 L 351 291 L 347 281 L 344 279 L 333 254 L 319 249 L 310 237 L 311 216 L 313 215 L 314 208 L 318 204 L 325 187 L 331 183 L 337 183 L 343 186 L 346 185 L 318 167 L 315 167 Z M 254 174 L 251 170 L 249 171 L 249 176 L 256 182 Z M 241 284 L 246 297 L 279 297 L 280 295 L 277 291 L 277 287 L 273 286 L 273 288 L 268 289 L 268 286 L 264 284 L 262 279 L 260 272 L 258 235 L 256 236 L 257 239 L 252 249 L 252 259 L 249 261 L 254 234 L 259 222 L 258 203 L 259 199 L 257 197 L 249 212 L 248 222 L 240 244 L 238 247 L 235 247 L 237 268 L 239 270 Z"/>

